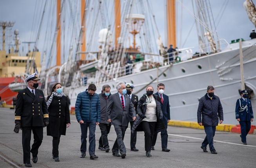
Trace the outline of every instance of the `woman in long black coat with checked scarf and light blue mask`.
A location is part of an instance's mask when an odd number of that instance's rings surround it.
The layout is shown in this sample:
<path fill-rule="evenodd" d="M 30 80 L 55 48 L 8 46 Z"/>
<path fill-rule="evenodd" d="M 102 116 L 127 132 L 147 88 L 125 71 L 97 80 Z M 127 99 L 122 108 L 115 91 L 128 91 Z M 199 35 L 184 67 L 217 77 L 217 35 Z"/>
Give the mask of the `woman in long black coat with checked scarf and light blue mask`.
<path fill-rule="evenodd" d="M 49 125 L 47 135 L 53 136 L 53 159 L 59 159 L 60 136 L 66 134 L 66 127 L 70 126 L 69 102 L 63 94 L 60 83 L 55 83 L 51 90 L 51 95 L 47 97 L 47 107 L 49 112 Z"/>

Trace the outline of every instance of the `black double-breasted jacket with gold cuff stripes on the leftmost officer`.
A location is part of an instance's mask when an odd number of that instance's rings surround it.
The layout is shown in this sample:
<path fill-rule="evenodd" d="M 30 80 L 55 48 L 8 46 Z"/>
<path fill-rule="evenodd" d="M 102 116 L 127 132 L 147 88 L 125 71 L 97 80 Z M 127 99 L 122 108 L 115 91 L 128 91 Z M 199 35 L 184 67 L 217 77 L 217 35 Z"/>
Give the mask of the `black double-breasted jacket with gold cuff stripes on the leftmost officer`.
<path fill-rule="evenodd" d="M 44 119 L 49 120 L 44 93 L 35 89 L 36 95 L 26 87 L 17 95 L 15 121 L 21 122 L 21 127 L 44 126 Z"/>

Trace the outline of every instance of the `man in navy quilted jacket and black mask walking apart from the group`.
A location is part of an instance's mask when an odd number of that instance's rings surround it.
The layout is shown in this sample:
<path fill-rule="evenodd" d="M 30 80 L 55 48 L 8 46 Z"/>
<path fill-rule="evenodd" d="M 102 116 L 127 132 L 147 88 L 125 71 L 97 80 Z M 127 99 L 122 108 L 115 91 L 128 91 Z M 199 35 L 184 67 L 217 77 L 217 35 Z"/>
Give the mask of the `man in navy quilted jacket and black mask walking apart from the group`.
<path fill-rule="evenodd" d="M 214 95 L 214 87 L 208 86 L 207 94 L 201 97 L 197 109 L 197 122 L 200 126 L 204 126 L 206 133 L 205 139 L 203 140 L 201 146 L 203 152 L 208 152 L 206 147 L 209 144 L 211 153 L 217 154 L 213 146 L 213 137 L 215 135 L 216 126 L 218 126 L 219 118 L 220 124 L 222 124 L 223 110 L 222 104 L 220 103 L 220 98 Z"/>

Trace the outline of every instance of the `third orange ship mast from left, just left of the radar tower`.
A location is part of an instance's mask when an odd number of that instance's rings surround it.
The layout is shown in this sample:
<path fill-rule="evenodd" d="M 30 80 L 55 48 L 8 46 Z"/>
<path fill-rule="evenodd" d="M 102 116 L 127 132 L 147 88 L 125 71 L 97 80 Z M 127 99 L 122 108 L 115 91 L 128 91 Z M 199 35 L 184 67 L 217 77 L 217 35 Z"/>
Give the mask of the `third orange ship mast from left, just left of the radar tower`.
<path fill-rule="evenodd" d="M 115 48 L 118 48 L 118 37 L 121 30 L 121 4 L 120 0 L 114 0 L 114 13 L 115 13 Z"/>

